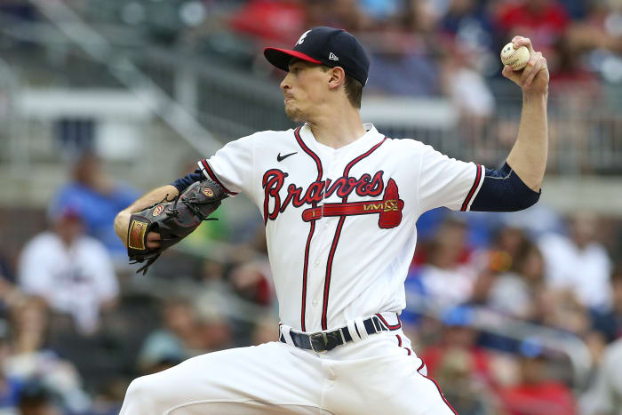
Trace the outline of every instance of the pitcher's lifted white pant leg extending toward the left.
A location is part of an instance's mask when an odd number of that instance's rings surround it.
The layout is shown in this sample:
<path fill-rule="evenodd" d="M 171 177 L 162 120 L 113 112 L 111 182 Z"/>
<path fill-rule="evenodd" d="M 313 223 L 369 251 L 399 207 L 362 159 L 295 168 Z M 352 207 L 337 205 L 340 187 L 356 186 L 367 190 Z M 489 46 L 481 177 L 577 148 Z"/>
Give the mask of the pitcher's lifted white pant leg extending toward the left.
<path fill-rule="evenodd" d="M 305 351 L 271 342 L 200 355 L 134 379 L 121 415 L 330 413 L 323 373 Z"/>

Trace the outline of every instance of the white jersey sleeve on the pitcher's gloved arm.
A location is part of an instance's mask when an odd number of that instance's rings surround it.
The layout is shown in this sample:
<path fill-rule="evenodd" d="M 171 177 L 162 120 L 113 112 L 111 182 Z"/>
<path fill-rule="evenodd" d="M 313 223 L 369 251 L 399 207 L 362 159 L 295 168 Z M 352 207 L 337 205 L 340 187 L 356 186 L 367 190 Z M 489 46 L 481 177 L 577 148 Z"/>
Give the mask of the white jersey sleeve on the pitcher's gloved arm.
<path fill-rule="evenodd" d="M 225 190 L 229 196 L 240 192 L 252 196 L 252 175 L 254 171 L 253 136 L 234 140 L 210 158 L 199 160 L 198 165 L 203 175 Z"/>

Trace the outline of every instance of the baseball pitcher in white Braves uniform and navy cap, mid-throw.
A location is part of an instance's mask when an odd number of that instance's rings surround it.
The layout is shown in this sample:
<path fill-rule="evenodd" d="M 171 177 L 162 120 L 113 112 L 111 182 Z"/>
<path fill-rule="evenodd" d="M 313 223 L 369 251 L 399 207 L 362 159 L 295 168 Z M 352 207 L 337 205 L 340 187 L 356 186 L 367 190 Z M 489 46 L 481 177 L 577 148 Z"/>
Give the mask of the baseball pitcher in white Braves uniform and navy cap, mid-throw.
<path fill-rule="evenodd" d="M 424 211 L 517 211 L 538 201 L 547 151 L 546 60 L 530 39 L 521 72 L 518 139 L 499 170 L 464 163 L 416 140 L 393 140 L 359 113 L 369 59 L 344 30 L 317 27 L 292 50 L 267 48 L 287 72 L 287 116 L 301 125 L 256 132 L 198 162 L 194 174 L 156 188 L 132 212 L 206 178 L 244 192 L 266 227 L 280 338 L 200 355 L 134 379 L 122 414 L 451 414 L 450 403 L 404 336 L 404 279 Z M 158 246 L 159 235 L 147 235 Z"/>

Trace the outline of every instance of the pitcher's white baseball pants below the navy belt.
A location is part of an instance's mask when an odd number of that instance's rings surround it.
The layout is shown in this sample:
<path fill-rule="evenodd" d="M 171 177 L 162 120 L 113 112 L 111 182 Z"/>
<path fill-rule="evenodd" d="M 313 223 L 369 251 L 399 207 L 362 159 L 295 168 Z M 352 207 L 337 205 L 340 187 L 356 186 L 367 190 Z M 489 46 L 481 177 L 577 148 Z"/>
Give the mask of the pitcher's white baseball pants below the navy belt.
<path fill-rule="evenodd" d="M 281 342 L 134 379 L 122 415 L 453 414 L 401 330 L 315 353 Z"/>

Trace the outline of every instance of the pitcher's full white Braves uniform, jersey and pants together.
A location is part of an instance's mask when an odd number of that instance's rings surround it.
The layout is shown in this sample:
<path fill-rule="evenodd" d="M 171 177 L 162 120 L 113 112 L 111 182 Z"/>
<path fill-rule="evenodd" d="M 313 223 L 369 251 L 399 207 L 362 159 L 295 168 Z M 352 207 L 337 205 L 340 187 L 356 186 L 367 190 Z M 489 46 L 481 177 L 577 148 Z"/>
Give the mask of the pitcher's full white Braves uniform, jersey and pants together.
<path fill-rule="evenodd" d="M 318 143 L 308 125 L 258 132 L 199 162 L 263 215 L 282 339 L 134 379 L 123 415 L 456 413 L 397 315 L 417 218 L 436 206 L 468 210 L 483 168 L 365 129 L 338 149 Z M 362 319 L 374 314 L 390 331 L 365 331 Z M 326 352 L 293 346 L 289 330 L 346 326 L 352 341 Z"/>

